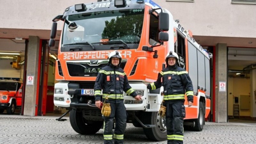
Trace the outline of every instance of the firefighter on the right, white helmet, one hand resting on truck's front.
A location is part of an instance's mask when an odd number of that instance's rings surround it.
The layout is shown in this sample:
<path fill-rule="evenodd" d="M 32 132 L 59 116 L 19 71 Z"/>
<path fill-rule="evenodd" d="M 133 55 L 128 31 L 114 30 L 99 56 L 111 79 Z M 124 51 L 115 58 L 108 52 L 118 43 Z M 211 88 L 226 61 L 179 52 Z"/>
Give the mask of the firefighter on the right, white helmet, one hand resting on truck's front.
<path fill-rule="evenodd" d="M 170 52 L 166 56 L 166 68 L 159 74 L 156 82 L 147 85 L 150 90 L 164 87 L 164 100 L 159 115 L 164 117 L 167 129 L 167 143 L 183 143 L 183 118 L 185 118 L 185 93 L 188 106 L 193 104 L 193 85 L 188 72 L 178 66 L 178 54 Z M 161 82 L 162 79 L 162 82 Z"/>

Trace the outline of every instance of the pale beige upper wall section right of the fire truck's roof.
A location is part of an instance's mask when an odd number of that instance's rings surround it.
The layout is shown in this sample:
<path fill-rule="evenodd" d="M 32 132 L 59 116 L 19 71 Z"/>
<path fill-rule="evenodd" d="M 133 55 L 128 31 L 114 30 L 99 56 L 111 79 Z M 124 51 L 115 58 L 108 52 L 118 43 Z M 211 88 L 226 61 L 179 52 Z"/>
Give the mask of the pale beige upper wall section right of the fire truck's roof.
<path fill-rule="evenodd" d="M 256 37 L 255 4 L 231 4 L 231 0 L 155 2 L 162 2 L 160 5 L 171 11 L 185 29 L 192 30 L 193 35 Z"/>

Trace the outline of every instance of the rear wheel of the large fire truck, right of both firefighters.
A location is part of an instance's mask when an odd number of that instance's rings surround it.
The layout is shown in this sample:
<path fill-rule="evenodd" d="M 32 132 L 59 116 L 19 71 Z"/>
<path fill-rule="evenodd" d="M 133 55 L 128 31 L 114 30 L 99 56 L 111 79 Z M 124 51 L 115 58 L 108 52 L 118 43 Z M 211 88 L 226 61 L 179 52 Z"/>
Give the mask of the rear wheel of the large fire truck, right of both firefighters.
<path fill-rule="evenodd" d="M 205 108 L 204 103 L 199 102 L 199 114 L 198 118 L 195 119 L 195 127 L 192 128 L 192 131 L 202 131 L 204 127 L 204 116 L 205 116 Z"/>

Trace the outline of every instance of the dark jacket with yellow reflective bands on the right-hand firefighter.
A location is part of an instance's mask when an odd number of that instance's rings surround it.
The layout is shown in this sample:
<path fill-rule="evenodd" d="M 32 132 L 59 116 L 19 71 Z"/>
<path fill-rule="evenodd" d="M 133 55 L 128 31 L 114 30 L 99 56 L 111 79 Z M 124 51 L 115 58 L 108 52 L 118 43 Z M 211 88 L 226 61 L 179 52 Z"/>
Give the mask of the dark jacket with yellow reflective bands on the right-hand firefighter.
<path fill-rule="evenodd" d="M 162 79 L 162 82 L 161 82 Z M 148 89 L 155 90 L 164 86 L 164 100 L 184 100 L 193 102 L 193 85 L 188 72 L 179 66 L 168 66 L 159 74 L 156 82 L 148 84 Z"/>

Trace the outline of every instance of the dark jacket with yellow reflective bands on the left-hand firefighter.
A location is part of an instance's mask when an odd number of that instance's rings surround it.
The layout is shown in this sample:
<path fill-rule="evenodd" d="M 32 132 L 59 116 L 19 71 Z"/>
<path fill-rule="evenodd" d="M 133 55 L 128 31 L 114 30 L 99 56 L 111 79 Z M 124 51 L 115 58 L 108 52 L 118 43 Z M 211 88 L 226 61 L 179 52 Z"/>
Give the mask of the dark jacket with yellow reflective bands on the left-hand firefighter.
<path fill-rule="evenodd" d="M 123 92 L 126 92 L 132 97 L 137 96 L 136 92 L 129 85 L 124 70 L 112 64 L 103 67 L 96 78 L 96 83 L 94 85 L 95 101 L 101 99 L 101 90 L 103 90 L 103 102 L 106 97 L 108 97 L 110 102 L 123 102 Z"/>

